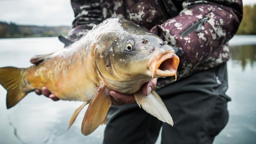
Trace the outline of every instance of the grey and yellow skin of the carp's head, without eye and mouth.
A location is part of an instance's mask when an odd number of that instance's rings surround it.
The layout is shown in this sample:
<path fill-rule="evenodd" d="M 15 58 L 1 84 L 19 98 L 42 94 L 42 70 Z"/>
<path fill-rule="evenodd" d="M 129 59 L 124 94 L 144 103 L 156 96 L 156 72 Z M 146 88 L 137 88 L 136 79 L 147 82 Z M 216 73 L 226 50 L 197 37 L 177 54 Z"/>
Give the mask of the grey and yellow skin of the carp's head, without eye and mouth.
<path fill-rule="evenodd" d="M 105 84 L 109 88 L 132 94 L 150 80 L 151 70 L 148 69 L 150 62 L 157 55 L 165 52 L 174 53 L 174 50 L 147 29 L 126 20 L 120 21 L 124 31 L 102 36 L 95 54 L 95 58 L 100 57 L 100 59 L 95 59 L 95 62 L 100 76 L 104 77 Z M 124 35 L 125 32 L 128 34 Z M 142 43 L 144 39 L 148 41 L 147 44 Z M 130 40 L 134 42 L 134 47 L 132 51 L 127 51 L 124 47 Z M 159 76 L 155 75 L 155 77 Z"/>

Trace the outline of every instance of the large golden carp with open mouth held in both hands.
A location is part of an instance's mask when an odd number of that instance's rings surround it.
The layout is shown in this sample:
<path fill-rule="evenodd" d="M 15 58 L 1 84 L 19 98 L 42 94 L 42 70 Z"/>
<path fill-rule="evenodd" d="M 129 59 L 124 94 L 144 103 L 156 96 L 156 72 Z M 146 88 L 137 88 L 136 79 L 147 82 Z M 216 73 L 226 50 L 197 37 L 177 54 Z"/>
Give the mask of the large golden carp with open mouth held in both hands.
<path fill-rule="evenodd" d="M 155 91 L 142 94 L 150 79 L 175 76 L 179 57 L 159 36 L 123 18 L 109 18 L 61 51 L 34 56 L 28 68 L 0 68 L 0 84 L 12 108 L 29 92 L 46 86 L 60 100 L 84 103 L 75 110 L 69 127 L 89 103 L 81 131 L 92 133 L 106 122 L 110 90 L 132 94 L 149 114 L 173 125 L 172 117 Z M 69 128 L 68 127 L 68 128 Z"/>

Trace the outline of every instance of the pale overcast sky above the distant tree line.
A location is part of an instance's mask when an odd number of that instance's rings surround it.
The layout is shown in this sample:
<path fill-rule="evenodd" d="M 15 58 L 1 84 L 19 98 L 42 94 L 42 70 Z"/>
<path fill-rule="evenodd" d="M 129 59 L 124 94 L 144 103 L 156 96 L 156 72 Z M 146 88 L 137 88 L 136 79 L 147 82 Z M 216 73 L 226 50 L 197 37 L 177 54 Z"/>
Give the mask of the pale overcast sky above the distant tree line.
<path fill-rule="evenodd" d="M 243 0 L 255 4 L 256 0 Z M 0 21 L 41 26 L 70 26 L 74 19 L 70 0 L 0 0 Z"/>

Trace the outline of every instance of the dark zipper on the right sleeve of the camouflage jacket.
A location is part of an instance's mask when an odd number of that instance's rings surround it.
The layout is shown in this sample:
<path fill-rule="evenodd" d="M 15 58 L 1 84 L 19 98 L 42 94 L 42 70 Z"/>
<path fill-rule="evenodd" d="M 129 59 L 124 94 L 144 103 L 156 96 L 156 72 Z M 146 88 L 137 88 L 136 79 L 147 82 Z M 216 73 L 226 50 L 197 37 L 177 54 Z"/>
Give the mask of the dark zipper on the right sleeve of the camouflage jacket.
<path fill-rule="evenodd" d="M 196 23 L 194 23 L 193 25 L 188 27 L 186 30 L 184 30 L 180 34 L 180 36 L 185 37 L 185 36 L 187 36 L 189 33 L 191 33 L 195 29 L 196 29 L 196 33 L 199 33 L 201 31 L 201 28 L 202 28 L 203 24 L 205 24 L 207 20 L 209 20 L 209 18 L 208 17 L 204 17 L 203 19 L 197 21 Z"/>

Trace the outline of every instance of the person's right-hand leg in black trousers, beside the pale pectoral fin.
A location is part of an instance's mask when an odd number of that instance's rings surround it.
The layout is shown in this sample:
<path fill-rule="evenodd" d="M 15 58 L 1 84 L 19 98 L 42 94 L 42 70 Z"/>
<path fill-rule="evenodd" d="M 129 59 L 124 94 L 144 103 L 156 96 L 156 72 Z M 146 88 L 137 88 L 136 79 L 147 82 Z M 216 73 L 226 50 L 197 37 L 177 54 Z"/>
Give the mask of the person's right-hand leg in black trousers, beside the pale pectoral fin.
<path fill-rule="evenodd" d="M 162 144 L 208 144 L 228 122 L 226 65 L 158 90 L 174 125 L 163 123 Z"/>

